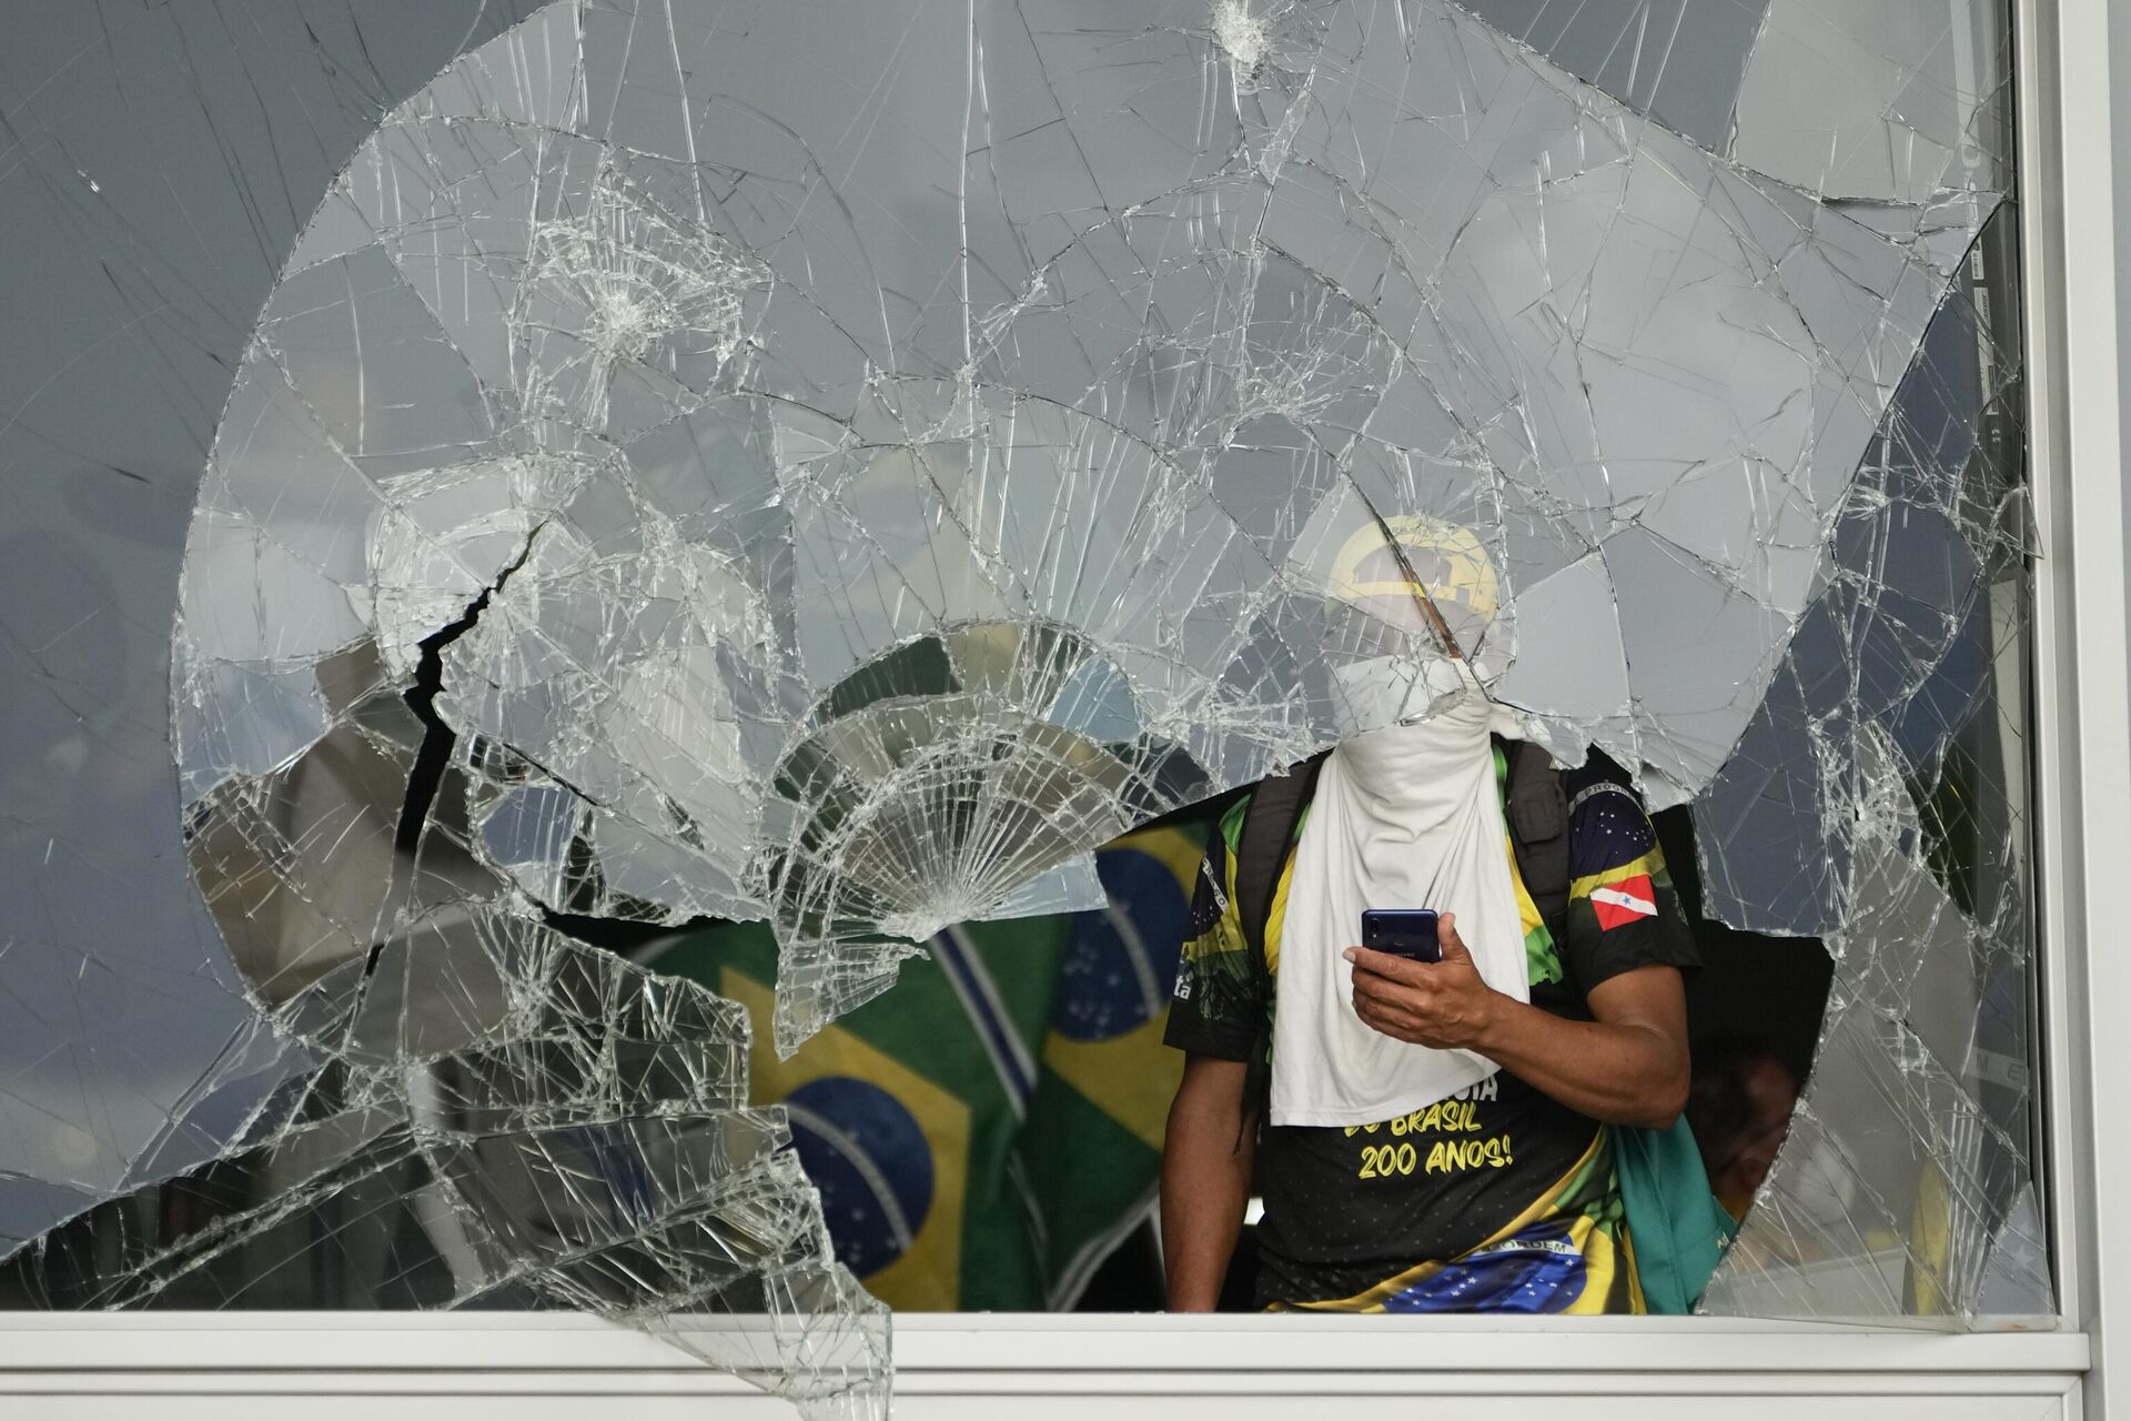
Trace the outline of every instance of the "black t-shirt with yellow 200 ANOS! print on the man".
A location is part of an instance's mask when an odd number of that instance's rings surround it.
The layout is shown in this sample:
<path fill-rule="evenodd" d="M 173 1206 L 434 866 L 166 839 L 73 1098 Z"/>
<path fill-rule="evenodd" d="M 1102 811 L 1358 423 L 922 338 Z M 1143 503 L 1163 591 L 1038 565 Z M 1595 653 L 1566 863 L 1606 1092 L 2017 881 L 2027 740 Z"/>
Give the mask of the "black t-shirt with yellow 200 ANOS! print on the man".
<path fill-rule="evenodd" d="M 1496 765 L 1500 778 L 1500 754 Z M 1649 965 L 1692 967 L 1696 957 L 1626 773 L 1594 754 L 1566 773 L 1564 788 L 1571 897 L 1562 940 L 1541 922 L 1522 878 L 1517 897 L 1532 1003 L 1590 1020 L 1585 997 L 1600 982 Z M 1166 1035 L 1170 1046 L 1223 1061 L 1247 1061 L 1272 1014 L 1236 910 L 1247 810 L 1249 801 L 1234 805 L 1206 848 Z M 1294 850 L 1283 880 L 1291 871 Z M 1274 971 L 1276 918 L 1266 925 Z M 1374 1125 L 1268 1127 L 1257 1178 L 1266 1202 L 1259 1306 L 1641 1310 L 1613 1131 L 1509 1072 Z"/>

